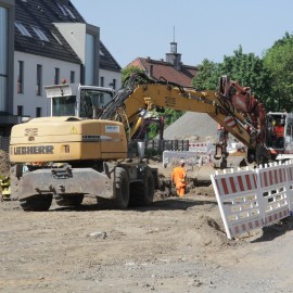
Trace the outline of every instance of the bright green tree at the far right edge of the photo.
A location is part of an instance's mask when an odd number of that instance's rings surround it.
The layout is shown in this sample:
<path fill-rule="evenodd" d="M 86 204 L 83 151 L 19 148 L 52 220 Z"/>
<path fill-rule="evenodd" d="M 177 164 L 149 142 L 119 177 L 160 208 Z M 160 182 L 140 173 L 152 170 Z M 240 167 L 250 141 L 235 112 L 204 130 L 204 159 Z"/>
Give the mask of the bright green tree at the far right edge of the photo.
<path fill-rule="evenodd" d="M 266 69 L 271 73 L 273 110 L 293 110 L 293 35 L 285 33 L 264 54 Z"/>

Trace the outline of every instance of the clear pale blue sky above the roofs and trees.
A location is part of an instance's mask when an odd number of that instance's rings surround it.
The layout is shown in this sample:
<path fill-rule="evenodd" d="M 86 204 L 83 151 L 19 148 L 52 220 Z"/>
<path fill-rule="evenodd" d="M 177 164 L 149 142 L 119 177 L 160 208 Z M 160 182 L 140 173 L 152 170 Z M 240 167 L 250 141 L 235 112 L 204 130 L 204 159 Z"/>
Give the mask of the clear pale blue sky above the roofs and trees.
<path fill-rule="evenodd" d="M 221 62 L 241 44 L 265 50 L 293 33 L 292 0 L 72 0 L 122 67 L 136 58 L 165 59 L 178 43 L 183 64 Z"/>

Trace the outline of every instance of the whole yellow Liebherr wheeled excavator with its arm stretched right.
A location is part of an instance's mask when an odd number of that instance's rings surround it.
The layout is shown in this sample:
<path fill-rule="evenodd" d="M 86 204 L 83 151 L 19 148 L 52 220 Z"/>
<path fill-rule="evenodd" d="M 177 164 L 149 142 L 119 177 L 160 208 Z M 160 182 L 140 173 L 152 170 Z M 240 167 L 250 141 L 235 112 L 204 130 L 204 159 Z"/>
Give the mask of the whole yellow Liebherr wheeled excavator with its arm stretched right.
<path fill-rule="evenodd" d="M 207 113 L 247 145 L 250 160 L 269 158 L 263 105 L 227 77 L 217 91 L 196 91 L 135 74 L 105 106 L 105 89 L 65 84 L 46 90 L 51 116 L 15 125 L 11 133 L 11 190 L 24 211 L 48 211 L 53 199 L 77 206 L 85 195 L 117 208 L 152 203 L 157 170 L 129 157 L 128 146 L 154 109 Z M 226 146 L 226 140 L 217 144 L 216 158 L 225 158 Z"/>

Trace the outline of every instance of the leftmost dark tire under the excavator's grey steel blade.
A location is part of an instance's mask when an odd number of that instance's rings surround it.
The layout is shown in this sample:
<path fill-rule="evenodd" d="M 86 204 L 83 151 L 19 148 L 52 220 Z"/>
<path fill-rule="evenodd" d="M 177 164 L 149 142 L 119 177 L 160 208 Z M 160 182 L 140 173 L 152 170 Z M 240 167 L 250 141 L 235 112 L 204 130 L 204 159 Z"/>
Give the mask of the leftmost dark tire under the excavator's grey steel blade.
<path fill-rule="evenodd" d="M 20 204 L 25 212 L 46 212 L 50 208 L 52 199 L 52 194 L 34 195 L 20 200 Z"/>

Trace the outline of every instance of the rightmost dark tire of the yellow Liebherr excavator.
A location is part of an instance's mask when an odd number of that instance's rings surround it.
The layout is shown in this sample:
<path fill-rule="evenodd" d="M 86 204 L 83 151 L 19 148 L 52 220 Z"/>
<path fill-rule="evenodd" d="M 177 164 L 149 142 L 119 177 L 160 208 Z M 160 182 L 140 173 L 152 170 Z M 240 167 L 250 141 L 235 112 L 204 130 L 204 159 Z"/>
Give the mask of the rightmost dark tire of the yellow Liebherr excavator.
<path fill-rule="evenodd" d="M 130 205 L 149 205 L 154 200 L 154 177 L 151 168 L 144 169 L 143 181 L 133 182 L 130 187 Z"/>

